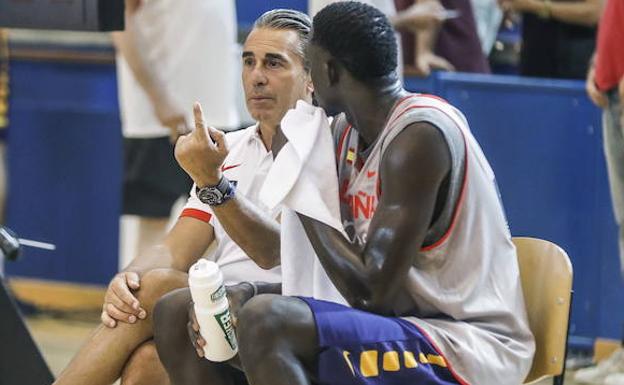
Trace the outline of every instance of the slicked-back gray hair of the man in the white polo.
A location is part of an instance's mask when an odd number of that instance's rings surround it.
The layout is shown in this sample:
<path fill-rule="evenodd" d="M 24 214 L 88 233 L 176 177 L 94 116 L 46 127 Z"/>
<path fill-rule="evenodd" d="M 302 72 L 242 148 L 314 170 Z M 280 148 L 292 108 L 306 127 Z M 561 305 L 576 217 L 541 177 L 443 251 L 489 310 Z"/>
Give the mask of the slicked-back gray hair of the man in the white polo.
<path fill-rule="evenodd" d="M 293 9 L 274 9 L 263 13 L 255 21 L 253 28 L 272 28 L 297 32 L 297 35 L 299 35 L 297 55 L 301 57 L 304 67 L 308 69 L 305 60 L 305 49 L 310 42 L 310 35 L 312 34 L 312 21 L 308 15 Z"/>

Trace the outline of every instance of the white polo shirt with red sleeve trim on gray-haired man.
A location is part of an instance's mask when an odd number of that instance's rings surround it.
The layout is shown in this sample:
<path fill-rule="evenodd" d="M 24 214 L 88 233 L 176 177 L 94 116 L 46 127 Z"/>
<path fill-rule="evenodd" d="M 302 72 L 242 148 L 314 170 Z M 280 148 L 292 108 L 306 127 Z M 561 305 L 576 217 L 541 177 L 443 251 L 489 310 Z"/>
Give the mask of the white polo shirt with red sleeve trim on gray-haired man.
<path fill-rule="evenodd" d="M 223 163 L 223 174 L 229 180 L 236 181 L 237 195 L 245 196 L 271 218 L 277 218 L 281 209 L 270 211 L 258 198 L 260 188 L 273 165 L 273 154 L 264 146 L 258 125 L 228 133 L 225 138 L 230 152 Z M 217 248 L 206 258 L 219 264 L 226 285 L 242 281 L 281 282 L 280 267 L 264 270 L 256 265 L 225 232 L 210 206 L 197 198 L 194 185 L 180 217 L 192 217 L 212 225 Z"/>

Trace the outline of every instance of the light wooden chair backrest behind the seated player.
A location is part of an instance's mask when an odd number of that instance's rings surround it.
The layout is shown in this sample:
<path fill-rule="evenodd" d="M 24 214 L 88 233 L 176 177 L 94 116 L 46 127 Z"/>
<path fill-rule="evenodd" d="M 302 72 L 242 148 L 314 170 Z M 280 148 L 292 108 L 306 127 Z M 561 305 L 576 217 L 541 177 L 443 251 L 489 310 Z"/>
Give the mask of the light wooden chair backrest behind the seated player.
<path fill-rule="evenodd" d="M 558 376 L 564 370 L 572 264 L 563 249 L 535 238 L 513 238 L 518 251 L 522 291 L 535 336 L 535 357 L 525 383 Z"/>

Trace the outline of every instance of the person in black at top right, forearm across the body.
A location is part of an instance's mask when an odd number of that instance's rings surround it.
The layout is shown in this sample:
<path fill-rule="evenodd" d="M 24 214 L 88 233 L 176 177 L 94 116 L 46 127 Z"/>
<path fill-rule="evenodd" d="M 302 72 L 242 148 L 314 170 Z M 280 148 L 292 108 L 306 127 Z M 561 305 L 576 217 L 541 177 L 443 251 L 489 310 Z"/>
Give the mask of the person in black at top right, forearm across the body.
<path fill-rule="evenodd" d="M 584 79 L 604 0 L 500 0 L 522 13 L 520 74 Z"/>

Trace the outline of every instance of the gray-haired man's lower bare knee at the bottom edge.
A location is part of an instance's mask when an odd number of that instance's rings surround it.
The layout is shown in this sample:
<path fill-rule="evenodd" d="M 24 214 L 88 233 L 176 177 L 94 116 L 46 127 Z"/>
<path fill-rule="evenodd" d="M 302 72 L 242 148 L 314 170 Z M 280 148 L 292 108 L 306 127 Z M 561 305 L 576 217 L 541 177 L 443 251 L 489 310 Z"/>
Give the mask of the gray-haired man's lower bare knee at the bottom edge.
<path fill-rule="evenodd" d="M 155 385 L 169 382 L 153 341 L 139 346 L 121 374 L 121 385 Z"/>

